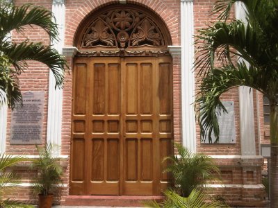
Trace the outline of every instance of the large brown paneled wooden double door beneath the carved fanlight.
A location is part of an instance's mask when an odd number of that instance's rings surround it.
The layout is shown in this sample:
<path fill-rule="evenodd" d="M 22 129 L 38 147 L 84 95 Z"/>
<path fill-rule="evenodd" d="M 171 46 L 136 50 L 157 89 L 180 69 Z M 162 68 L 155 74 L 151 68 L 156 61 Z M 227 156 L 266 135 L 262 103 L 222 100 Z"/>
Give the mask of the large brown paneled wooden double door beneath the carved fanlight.
<path fill-rule="evenodd" d="M 170 185 L 172 58 L 76 58 L 71 195 L 161 195 Z"/>

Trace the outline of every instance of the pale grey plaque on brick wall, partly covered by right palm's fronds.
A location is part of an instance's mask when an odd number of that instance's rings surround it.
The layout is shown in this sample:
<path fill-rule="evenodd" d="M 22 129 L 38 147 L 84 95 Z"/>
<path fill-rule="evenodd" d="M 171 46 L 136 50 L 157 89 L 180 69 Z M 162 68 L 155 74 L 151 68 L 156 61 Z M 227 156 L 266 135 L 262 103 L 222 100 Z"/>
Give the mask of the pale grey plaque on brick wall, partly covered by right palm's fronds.
<path fill-rule="evenodd" d="M 226 108 L 227 112 L 217 112 L 217 118 L 219 123 L 219 144 L 235 144 L 236 143 L 236 123 L 234 115 L 234 101 L 222 101 L 222 104 Z M 215 136 L 211 134 L 212 142 L 215 141 Z M 206 137 L 203 143 L 208 143 L 208 137 Z"/>

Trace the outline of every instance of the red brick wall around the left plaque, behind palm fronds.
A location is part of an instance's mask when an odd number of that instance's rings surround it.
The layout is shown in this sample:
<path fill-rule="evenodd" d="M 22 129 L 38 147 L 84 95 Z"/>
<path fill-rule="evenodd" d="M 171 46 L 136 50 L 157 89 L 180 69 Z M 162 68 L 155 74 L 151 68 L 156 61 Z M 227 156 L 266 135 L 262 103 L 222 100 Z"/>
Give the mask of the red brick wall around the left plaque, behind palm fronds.
<path fill-rule="evenodd" d="M 16 0 L 15 5 L 22 5 L 27 3 L 26 1 Z M 44 8 L 51 9 L 51 4 L 48 1 L 28 1 L 35 6 L 44 6 Z M 12 33 L 12 39 L 15 42 L 22 42 L 28 38 L 34 42 L 42 42 L 49 44 L 49 37 L 42 29 L 33 26 L 33 28 L 27 26 L 24 31 L 24 35 L 18 34 L 15 31 Z M 42 143 L 47 137 L 47 107 L 48 107 L 48 89 L 49 89 L 49 69 L 40 62 L 28 61 L 28 70 L 24 71 L 19 76 L 19 86 L 22 92 L 24 91 L 43 91 L 44 92 L 44 119 L 42 126 Z M 10 111 L 8 111 L 8 128 L 6 139 L 6 153 L 15 155 L 35 155 L 34 145 L 13 145 L 10 146 Z"/>

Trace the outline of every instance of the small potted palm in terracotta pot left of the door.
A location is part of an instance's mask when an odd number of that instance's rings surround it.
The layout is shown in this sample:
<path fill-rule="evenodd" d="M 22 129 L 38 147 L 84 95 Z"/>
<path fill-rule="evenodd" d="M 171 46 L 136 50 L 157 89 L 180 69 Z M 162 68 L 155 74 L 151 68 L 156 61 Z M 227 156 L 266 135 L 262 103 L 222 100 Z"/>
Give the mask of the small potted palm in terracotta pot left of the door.
<path fill-rule="evenodd" d="M 31 168 L 38 171 L 38 177 L 35 178 L 34 191 L 39 196 L 39 208 L 51 207 L 54 199 L 54 191 L 58 184 L 63 184 L 63 168 L 57 157 L 53 155 L 54 146 L 37 146 L 39 157 L 34 159 Z"/>

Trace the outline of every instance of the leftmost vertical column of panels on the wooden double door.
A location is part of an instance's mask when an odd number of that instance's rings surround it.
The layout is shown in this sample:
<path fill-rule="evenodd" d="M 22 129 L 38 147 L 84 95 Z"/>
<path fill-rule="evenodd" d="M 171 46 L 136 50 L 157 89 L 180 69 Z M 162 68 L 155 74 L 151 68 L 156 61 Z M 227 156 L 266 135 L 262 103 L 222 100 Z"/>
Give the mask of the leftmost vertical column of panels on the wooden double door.
<path fill-rule="evenodd" d="M 80 195 L 85 190 L 85 157 L 86 157 L 86 97 L 88 62 L 79 59 L 74 67 L 73 107 L 72 107 L 72 157 L 70 193 Z"/>

